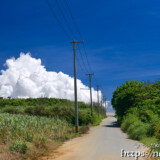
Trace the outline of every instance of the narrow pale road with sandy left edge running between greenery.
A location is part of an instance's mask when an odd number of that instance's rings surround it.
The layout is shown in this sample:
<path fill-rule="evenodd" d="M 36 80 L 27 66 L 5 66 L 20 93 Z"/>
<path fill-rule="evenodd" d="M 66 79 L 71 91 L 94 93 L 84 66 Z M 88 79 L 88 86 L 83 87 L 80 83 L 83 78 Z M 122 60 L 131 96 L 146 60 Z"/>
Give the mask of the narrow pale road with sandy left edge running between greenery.
<path fill-rule="evenodd" d="M 142 144 L 127 139 L 117 126 L 116 118 L 109 116 L 88 134 L 66 142 L 46 160 L 132 160 L 134 158 L 121 158 L 121 149 L 138 151 L 142 148 Z"/>

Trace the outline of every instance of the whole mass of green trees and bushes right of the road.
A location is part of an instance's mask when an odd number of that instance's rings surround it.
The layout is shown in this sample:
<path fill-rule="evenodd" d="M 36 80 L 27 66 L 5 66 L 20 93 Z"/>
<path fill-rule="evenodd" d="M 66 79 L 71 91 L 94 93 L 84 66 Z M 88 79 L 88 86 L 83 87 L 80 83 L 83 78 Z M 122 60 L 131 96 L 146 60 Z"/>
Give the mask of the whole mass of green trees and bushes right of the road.
<path fill-rule="evenodd" d="M 160 81 L 127 81 L 113 93 L 112 105 L 129 138 L 160 143 Z"/>

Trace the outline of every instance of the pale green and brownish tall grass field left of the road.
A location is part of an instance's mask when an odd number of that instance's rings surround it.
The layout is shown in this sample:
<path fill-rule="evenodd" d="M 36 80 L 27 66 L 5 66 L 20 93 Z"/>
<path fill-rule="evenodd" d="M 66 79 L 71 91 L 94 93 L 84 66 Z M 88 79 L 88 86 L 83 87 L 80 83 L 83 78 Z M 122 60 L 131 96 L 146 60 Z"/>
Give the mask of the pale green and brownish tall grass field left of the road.
<path fill-rule="evenodd" d="M 11 153 L 27 154 L 32 148 L 64 141 L 71 133 L 73 126 L 57 117 L 0 114 L 0 143 Z"/>

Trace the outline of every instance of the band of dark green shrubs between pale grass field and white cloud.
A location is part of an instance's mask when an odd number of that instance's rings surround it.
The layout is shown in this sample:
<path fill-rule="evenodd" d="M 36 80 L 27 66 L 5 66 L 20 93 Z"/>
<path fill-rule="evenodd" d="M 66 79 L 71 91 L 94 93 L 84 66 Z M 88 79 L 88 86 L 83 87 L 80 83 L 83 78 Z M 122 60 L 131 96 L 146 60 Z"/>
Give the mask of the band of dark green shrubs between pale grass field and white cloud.
<path fill-rule="evenodd" d="M 66 99 L 0 99 L 0 106 L 1 113 L 59 117 L 65 119 L 68 123 L 75 124 L 74 102 Z M 91 117 L 90 105 L 84 102 L 78 102 L 78 108 L 79 125 L 88 125 L 91 123 L 98 125 L 101 122 L 101 118 L 97 116 L 98 110 L 96 104 L 94 105 L 94 115 L 96 117 L 94 120 Z M 105 117 L 105 112 L 103 113 L 103 117 Z"/>

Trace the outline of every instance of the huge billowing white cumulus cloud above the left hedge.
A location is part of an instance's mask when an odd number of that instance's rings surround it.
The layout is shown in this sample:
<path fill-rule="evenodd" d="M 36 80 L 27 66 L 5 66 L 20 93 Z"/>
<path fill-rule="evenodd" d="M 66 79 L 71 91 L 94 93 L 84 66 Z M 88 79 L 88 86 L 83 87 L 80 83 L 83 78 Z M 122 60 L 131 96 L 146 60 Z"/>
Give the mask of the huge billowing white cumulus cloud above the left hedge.
<path fill-rule="evenodd" d="M 6 60 L 6 70 L 1 70 L 0 97 L 12 98 L 63 98 L 74 100 L 74 79 L 62 72 L 49 72 L 41 59 L 21 53 L 20 57 Z M 81 90 L 86 88 L 88 90 Z M 89 88 L 77 79 L 78 101 L 90 102 Z M 97 92 L 93 91 L 93 101 Z M 100 92 L 101 95 L 101 92 Z"/>

